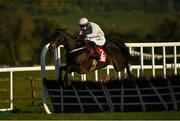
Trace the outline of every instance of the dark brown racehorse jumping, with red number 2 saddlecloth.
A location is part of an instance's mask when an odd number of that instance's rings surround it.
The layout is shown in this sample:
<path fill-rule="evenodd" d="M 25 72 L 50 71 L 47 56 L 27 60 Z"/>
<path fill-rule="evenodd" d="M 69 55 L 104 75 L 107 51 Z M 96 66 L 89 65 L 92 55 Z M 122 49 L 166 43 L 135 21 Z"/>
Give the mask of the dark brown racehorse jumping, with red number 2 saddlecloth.
<path fill-rule="evenodd" d="M 65 29 L 56 29 L 50 39 L 50 49 L 55 49 L 63 45 L 66 51 L 66 64 L 60 67 L 59 81 L 62 81 L 62 71 L 65 71 L 64 80 L 68 80 L 71 72 L 86 74 L 96 69 L 101 69 L 107 65 L 113 65 L 116 72 L 126 68 L 128 77 L 132 77 L 129 63 L 133 60 L 128 48 L 118 40 L 108 41 L 103 47 L 98 47 L 101 59 L 96 61 L 91 58 L 93 49 L 87 42 L 77 39 L 66 32 Z"/>

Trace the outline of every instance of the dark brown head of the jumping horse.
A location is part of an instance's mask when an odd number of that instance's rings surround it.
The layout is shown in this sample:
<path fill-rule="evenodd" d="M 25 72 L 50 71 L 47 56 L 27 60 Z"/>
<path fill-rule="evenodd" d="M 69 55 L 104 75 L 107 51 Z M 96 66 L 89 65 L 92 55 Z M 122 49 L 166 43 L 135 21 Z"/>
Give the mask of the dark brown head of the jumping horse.
<path fill-rule="evenodd" d="M 50 49 L 55 49 L 59 47 L 59 45 L 62 45 L 64 42 L 64 33 L 66 29 L 55 29 L 55 32 L 53 33 L 51 39 L 50 39 Z"/>

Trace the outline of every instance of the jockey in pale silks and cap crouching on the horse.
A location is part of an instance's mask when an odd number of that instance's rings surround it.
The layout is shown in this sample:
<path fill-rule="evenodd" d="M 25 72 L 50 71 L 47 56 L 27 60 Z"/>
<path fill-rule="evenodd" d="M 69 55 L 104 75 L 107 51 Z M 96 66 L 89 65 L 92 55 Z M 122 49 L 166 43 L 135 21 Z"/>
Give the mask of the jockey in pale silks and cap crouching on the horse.
<path fill-rule="evenodd" d="M 89 40 L 90 46 L 94 49 L 94 56 L 93 58 L 97 61 L 100 59 L 100 56 L 98 54 L 96 45 L 103 46 L 106 42 L 104 32 L 94 22 L 89 22 L 87 18 L 81 18 L 79 20 L 79 26 L 80 26 L 80 33 L 79 36 L 84 38 L 85 40 Z"/>

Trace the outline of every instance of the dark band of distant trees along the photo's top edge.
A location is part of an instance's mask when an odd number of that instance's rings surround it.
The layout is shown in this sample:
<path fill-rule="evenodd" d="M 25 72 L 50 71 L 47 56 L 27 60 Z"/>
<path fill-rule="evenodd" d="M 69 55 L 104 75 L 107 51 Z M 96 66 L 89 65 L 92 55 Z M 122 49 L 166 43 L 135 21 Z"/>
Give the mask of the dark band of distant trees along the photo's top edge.
<path fill-rule="evenodd" d="M 2 0 L 0 4 L 44 5 L 53 7 L 76 6 L 89 10 L 144 10 L 175 12 L 180 10 L 179 0 Z"/>

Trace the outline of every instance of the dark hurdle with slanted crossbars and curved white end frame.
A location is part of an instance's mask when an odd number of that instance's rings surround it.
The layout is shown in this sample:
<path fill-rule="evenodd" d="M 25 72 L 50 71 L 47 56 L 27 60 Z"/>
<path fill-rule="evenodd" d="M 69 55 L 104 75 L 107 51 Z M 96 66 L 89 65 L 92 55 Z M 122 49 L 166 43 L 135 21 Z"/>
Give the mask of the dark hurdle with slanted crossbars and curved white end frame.
<path fill-rule="evenodd" d="M 60 53 L 55 50 L 54 80 L 46 78 L 45 56 L 41 53 L 42 104 L 47 114 L 64 112 L 169 111 L 180 109 L 180 77 L 120 79 L 109 82 L 76 81 L 64 87 L 57 82 Z M 47 98 L 49 102 L 47 102 Z M 48 105 L 49 103 L 50 105 Z"/>

